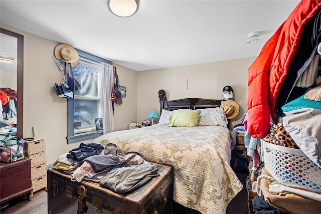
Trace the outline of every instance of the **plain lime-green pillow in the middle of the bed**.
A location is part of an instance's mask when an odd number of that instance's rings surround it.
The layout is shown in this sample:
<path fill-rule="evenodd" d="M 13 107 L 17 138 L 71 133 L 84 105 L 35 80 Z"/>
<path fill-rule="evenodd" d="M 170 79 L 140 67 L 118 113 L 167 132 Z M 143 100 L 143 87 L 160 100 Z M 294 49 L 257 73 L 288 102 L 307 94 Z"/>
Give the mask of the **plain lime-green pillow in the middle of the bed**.
<path fill-rule="evenodd" d="M 197 127 L 201 110 L 176 110 L 170 116 L 169 126 Z"/>

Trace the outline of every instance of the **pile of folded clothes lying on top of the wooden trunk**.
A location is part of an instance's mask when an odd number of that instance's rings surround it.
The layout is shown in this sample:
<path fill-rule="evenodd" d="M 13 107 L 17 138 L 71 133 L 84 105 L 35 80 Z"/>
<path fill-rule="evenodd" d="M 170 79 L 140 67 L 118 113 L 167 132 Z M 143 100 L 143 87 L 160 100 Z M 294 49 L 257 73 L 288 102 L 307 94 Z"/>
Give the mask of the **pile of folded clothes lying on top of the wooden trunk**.
<path fill-rule="evenodd" d="M 107 154 L 104 150 L 108 151 Z M 78 148 L 60 155 L 53 163 L 53 168 L 71 174 L 72 181 L 81 182 L 85 179 L 98 182 L 100 186 L 118 193 L 130 192 L 159 176 L 157 164 L 151 164 L 139 155 L 134 159 L 137 152 L 130 157 L 109 154 L 109 151 L 108 146 L 104 149 L 97 143 L 81 143 Z"/>

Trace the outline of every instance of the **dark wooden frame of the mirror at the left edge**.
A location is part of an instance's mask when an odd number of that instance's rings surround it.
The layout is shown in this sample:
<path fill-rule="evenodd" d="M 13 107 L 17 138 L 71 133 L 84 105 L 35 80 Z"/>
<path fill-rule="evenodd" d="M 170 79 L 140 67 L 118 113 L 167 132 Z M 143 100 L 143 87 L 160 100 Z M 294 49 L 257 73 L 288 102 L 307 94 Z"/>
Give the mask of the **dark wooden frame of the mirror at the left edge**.
<path fill-rule="evenodd" d="M 17 139 L 24 134 L 24 36 L 0 28 L 0 33 L 17 38 Z"/>

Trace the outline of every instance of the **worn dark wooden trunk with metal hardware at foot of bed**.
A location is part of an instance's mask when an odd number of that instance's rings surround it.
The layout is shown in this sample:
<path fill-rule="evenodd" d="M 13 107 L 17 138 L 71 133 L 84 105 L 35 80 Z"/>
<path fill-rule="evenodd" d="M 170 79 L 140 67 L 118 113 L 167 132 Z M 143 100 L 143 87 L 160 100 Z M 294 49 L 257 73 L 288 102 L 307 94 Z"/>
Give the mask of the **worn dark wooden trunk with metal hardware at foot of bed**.
<path fill-rule="evenodd" d="M 171 214 L 173 168 L 159 164 L 158 173 L 160 176 L 138 189 L 121 194 L 96 182 L 71 181 L 71 175 L 48 169 L 48 213 L 77 213 L 77 210 L 83 213 L 84 203 L 79 198 L 86 192 L 82 199 L 88 209 L 86 213 Z"/>

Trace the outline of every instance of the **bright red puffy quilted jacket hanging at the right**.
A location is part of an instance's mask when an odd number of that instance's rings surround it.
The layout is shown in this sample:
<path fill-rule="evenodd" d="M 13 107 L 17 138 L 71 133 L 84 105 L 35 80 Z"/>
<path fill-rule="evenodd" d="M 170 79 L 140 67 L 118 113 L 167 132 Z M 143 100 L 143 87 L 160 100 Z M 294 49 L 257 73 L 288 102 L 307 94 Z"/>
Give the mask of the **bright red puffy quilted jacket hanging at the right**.
<path fill-rule="evenodd" d="M 247 125 L 252 137 L 265 137 L 268 133 L 270 119 L 276 115 L 276 98 L 299 47 L 304 25 L 320 8 L 321 0 L 302 0 L 248 69 Z"/>

